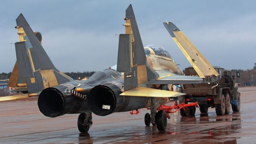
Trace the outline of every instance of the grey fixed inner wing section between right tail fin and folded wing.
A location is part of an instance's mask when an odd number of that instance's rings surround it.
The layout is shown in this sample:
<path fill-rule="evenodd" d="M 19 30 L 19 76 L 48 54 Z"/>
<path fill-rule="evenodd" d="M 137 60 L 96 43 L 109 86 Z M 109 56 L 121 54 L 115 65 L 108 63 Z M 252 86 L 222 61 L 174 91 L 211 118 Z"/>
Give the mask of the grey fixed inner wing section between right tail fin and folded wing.
<path fill-rule="evenodd" d="M 151 80 L 147 84 L 157 85 L 157 84 L 198 84 L 203 83 L 203 79 L 199 76 L 163 76 L 155 80 Z"/>

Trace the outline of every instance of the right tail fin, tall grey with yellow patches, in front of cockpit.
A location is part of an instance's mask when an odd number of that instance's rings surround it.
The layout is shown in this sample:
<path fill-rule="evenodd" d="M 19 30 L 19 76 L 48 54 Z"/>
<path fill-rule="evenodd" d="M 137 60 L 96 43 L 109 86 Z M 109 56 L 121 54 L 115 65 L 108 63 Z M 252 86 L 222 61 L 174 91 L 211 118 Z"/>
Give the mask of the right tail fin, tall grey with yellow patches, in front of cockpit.
<path fill-rule="evenodd" d="M 117 71 L 125 73 L 125 88 L 129 90 L 159 77 L 147 66 L 146 55 L 132 6 L 126 9 L 125 34 L 119 35 Z"/>

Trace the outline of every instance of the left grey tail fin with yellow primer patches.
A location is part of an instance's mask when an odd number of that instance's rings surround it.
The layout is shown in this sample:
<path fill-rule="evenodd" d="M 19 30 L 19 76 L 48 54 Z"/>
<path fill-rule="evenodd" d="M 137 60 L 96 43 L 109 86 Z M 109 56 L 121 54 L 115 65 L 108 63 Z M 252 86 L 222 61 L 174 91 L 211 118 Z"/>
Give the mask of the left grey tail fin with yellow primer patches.
<path fill-rule="evenodd" d="M 41 45 L 40 33 L 34 33 L 26 19 L 20 14 L 17 19 L 20 42 L 15 43 L 18 76 L 26 80 L 29 93 L 73 81 L 55 68 Z"/>

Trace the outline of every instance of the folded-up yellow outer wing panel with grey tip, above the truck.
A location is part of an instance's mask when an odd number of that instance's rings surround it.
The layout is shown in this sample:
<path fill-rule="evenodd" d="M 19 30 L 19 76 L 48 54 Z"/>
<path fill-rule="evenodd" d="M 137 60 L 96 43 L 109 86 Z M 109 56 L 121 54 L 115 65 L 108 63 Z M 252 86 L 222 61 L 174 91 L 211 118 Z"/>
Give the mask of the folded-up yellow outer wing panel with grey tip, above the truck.
<path fill-rule="evenodd" d="M 212 65 L 207 61 L 207 59 L 204 58 L 204 56 L 198 51 L 197 48 L 195 48 L 192 42 L 190 42 L 190 40 L 183 34 L 182 31 L 180 31 L 179 28 L 177 28 L 176 25 L 170 22 L 163 24 L 200 78 L 219 75 Z"/>

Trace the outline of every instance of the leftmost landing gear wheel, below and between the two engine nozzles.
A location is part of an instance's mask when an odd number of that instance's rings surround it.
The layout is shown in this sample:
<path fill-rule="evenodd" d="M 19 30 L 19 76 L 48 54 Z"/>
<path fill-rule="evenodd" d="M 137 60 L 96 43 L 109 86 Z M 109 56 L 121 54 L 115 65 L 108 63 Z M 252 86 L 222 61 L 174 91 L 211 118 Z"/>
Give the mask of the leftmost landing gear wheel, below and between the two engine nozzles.
<path fill-rule="evenodd" d="M 92 112 L 81 113 L 78 116 L 77 127 L 80 133 L 87 133 L 92 124 Z"/>

